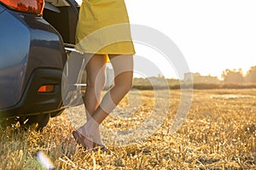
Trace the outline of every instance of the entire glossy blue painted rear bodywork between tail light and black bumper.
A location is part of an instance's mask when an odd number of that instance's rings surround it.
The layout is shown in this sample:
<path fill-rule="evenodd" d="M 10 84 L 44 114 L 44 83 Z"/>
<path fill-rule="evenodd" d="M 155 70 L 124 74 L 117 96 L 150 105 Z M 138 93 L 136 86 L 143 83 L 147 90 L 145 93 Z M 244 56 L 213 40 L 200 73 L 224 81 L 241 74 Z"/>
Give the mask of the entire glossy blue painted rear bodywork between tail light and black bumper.
<path fill-rule="evenodd" d="M 62 71 L 67 54 L 61 35 L 41 16 L 21 14 L 6 9 L 0 14 L 0 22 L 4 23 L 0 26 L 0 112 L 2 113 L 6 109 L 20 105 L 18 103 L 21 96 L 25 95 L 33 71 L 38 68 Z M 38 85 L 37 88 L 39 87 Z M 59 96 L 58 98 L 61 101 Z"/>

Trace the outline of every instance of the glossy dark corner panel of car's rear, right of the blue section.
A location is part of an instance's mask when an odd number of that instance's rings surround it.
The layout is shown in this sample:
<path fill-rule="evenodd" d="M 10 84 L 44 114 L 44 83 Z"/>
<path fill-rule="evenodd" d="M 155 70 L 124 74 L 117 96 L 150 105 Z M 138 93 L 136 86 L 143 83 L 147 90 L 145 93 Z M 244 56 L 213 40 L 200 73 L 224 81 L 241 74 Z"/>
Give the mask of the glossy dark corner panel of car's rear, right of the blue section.
<path fill-rule="evenodd" d="M 26 69 L 25 82 L 28 81 L 32 71 L 36 68 L 63 69 L 67 55 L 61 35 L 41 17 L 25 21 L 31 32 L 31 45 L 27 62 L 27 65 L 30 66 Z"/>

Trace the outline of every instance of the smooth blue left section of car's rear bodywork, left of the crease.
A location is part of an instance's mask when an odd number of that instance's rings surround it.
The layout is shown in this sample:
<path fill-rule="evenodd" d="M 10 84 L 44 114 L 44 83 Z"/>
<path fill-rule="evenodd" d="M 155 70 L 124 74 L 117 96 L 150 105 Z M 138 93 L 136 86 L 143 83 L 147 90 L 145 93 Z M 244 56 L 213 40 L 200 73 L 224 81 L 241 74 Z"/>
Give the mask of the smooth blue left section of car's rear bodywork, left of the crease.
<path fill-rule="evenodd" d="M 30 32 L 6 11 L 0 14 L 1 20 L 5 22 L 0 26 L 0 108 L 5 108 L 15 105 L 22 94 Z"/>

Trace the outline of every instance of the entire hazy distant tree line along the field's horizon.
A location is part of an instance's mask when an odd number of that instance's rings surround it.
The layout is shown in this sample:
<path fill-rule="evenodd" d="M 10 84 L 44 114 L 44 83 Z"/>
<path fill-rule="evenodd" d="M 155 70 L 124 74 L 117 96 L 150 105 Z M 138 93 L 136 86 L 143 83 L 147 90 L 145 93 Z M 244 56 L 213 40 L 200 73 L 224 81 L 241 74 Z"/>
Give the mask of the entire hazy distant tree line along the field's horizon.
<path fill-rule="evenodd" d="M 189 76 L 189 77 L 186 77 Z M 241 69 L 226 69 L 222 72 L 222 81 L 218 77 L 201 76 L 199 73 L 186 73 L 183 80 L 168 79 L 161 75 L 157 77 L 147 77 L 133 79 L 133 88 L 137 89 L 163 89 L 163 88 L 183 88 L 189 86 L 187 78 L 193 78 L 194 88 L 207 89 L 207 88 L 256 88 L 256 65 L 252 66 L 246 74 L 243 74 Z"/>

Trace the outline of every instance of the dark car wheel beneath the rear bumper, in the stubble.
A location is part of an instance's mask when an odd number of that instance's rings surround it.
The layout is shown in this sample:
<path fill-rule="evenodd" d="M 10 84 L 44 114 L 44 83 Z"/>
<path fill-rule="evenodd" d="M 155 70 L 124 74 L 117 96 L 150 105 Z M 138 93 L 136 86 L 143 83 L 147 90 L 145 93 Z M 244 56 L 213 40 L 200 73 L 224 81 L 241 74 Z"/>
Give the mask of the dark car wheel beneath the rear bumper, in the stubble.
<path fill-rule="evenodd" d="M 49 122 L 49 114 L 41 114 L 36 116 L 27 116 L 26 122 L 20 123 L 24 126 L 36 125 L 36 130 L 41 131 Z"/>

